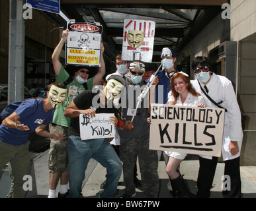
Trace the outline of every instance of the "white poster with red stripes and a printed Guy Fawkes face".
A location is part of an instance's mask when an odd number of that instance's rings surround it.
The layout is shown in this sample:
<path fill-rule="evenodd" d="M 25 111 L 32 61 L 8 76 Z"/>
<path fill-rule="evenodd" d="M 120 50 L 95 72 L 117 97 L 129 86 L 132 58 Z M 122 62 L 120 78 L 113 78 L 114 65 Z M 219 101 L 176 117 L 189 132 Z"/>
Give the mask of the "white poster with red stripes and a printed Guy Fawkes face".
<path fill-rule="evenodd" d="M 125 19 L 122 43 L 122 60 L 140 60 L 150 63 L 153 57 L 155 22 Z"/>

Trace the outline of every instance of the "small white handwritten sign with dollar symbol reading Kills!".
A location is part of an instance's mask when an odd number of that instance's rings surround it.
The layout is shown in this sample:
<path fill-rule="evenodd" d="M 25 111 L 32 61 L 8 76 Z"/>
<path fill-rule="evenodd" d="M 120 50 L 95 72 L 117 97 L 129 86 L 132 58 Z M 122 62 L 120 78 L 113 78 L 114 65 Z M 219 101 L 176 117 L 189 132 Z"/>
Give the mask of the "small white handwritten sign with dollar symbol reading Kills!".
<path fill-rule="evenodd" d="M 96 113 L 93 118 L 86 114 L 80 114 L 81 140 L 114 137 L 114 124 L 110 121 L 110 117 L 112 116 L 114 116 L 114 113 Z"/>

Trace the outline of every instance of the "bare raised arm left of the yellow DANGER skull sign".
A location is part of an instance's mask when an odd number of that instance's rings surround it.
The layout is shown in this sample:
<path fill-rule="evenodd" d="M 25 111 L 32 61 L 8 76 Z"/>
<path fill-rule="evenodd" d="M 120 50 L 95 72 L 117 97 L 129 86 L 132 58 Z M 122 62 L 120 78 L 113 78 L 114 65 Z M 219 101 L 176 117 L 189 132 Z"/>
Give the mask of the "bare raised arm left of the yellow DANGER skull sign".
<path fill-rule="evenodd" d="M 54 53 L 52 53 L 52 64 L 54 65 L 55 75 L 58 76 L 60 73 L 60 69 L 62 68 L 62 63 L 60 63 L 60 53 L 62 53 L 62 47 L 65 44 L 65 38 L 68 36 L 69 30 L 66 29 L 62 32 L 62 39 L 60 39 L 59 44 L 54 49 Z"/>

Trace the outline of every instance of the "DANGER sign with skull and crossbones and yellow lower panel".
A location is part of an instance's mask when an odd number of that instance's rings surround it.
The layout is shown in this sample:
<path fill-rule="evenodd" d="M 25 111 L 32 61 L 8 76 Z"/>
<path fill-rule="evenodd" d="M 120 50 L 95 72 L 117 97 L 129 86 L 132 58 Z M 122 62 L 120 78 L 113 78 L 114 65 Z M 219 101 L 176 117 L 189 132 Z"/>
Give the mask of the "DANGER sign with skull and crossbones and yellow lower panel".
<path fill-rule="evenodd" d="M 95 23 L 69 23 L 65 61 L 67 65 L 101 66 L 102 26 Z"/>

